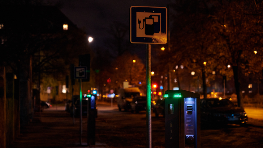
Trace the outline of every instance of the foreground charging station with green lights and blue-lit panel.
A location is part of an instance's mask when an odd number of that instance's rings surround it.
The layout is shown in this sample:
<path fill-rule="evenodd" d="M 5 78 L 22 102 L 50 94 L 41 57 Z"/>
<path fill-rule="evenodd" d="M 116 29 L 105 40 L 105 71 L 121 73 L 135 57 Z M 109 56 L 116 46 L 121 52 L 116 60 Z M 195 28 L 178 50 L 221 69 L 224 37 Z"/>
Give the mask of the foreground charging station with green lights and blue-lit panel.
<path fill-rule="evenodd" d="M 167 90 L 165 97 L 165 147 L 200 148 L 200 94 Z"/>

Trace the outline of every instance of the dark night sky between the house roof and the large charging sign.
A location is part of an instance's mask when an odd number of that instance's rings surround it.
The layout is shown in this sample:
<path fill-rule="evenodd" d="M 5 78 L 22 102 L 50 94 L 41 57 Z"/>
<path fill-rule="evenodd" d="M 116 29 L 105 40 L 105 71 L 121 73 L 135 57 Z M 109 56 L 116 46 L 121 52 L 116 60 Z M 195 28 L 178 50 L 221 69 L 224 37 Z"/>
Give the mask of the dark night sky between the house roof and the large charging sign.
<path fill-rule="evenodd" d="M 46 0 L 59 2 L 59 0 Z M 131 6 L 165 6 L 171 0 L 63 0 L 61 11 L 79 28 L 94 38 L 91 47 L 103 46 L 110 38 L 110 24 L 121 22 L 129 26 Z M 129 37 L 129 35 L 127 35 Z"/>

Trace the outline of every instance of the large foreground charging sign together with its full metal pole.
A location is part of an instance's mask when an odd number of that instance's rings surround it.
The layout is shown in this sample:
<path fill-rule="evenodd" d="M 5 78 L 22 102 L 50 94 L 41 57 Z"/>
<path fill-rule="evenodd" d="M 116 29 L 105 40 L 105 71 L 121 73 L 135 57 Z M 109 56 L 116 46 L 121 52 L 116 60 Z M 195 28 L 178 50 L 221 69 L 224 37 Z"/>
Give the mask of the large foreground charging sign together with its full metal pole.
<path fill-rule="evenodd" d="M 147 147 L 152 147 L 152 106 L 151 106 L 151 43 L 167 43 L 166 7 L 131 6 L 130 41 L 146 43 L 146 124 Z"/>

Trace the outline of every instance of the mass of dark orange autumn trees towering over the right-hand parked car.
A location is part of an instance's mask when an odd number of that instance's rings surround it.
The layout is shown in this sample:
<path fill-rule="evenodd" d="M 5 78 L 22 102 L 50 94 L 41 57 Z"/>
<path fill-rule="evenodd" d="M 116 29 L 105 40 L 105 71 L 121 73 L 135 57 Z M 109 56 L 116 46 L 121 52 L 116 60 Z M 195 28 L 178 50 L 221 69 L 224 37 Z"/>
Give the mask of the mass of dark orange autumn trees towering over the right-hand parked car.
<path fill-rule="evenodd" d="M 262 4 L 261 0 L 178 0 L 171 6 L 170 43 L 176 57 L 172 59 L 202 76 L 204 95 L 212 71 L 233 75 L 242 106 L 240 75 L 262 72 Z"/>

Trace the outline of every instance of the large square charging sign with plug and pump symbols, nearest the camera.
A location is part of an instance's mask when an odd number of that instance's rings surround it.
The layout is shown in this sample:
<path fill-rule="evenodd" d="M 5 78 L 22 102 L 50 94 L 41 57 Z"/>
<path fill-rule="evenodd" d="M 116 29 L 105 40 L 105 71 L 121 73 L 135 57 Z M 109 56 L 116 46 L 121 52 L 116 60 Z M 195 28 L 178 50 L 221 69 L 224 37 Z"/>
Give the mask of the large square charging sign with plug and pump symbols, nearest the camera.
<path fill-rule="evenodd" d="M 167 43 L 166 7 L 131 6 L 131 43 Z"/>

